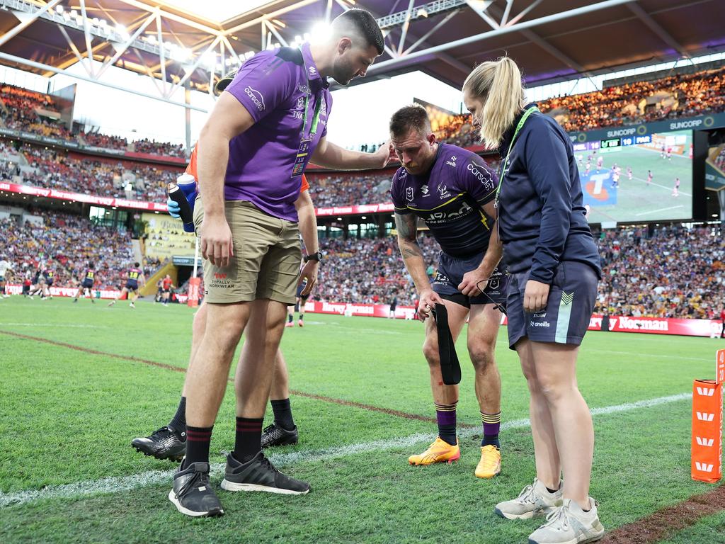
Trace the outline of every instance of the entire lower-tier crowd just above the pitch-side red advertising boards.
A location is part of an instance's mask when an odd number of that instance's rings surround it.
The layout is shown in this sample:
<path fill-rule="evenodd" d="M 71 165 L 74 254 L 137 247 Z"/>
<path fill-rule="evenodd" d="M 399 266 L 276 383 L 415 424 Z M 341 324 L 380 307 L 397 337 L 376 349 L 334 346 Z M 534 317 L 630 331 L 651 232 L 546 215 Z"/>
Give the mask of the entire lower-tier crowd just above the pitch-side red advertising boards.
<path fill-rule="evenodd" d="M 117 289 L 133 262 L 128 233 L 97 226 L 78 215 L 30 210 L 33 221 L 0 220 L 0 260 L 12 263 L 15 282 L 38 267 L 51 267 L 57 287 L 74 287 L 88 262 L 96 263 L 96 287 Z M 36 223 L 41 218 L 41 224 Z M 717 318 L 725 308 L 725 241 L 719 228 L 683 226 L 620 228 L 596 233 L 602 257 L 596 313 L 633 317 Z M 419 239 L 432 278 L 439 252 L 431 236 Z M 413 305 L 413 282 L 393 236 L 322 238 L 312 300 Z M 144 260 L 146 277 L 161 260 Z"/>

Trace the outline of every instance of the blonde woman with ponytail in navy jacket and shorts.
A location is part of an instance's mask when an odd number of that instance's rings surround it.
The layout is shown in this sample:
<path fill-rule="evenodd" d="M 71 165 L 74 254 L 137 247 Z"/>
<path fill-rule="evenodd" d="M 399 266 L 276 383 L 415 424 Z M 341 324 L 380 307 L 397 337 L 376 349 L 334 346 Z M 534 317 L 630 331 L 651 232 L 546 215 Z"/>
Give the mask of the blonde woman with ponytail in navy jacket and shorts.
<path fill-rule="evenodd" d="M 481 139 L 501 152 L 497 225 L 512 273 L 509 346 L 531 393 L 537 467 L 534 483 L 495 512 L 506 519 L 547 515 L 530 543 L 593 542 L 604 528 L 589 497 L 594 429 L 576 384 L 576 357 L 601 269 L 571 141 L 526 104 L 521 72 L 508 57 L 477 66 L 463 84 L 463 101 Z"/>

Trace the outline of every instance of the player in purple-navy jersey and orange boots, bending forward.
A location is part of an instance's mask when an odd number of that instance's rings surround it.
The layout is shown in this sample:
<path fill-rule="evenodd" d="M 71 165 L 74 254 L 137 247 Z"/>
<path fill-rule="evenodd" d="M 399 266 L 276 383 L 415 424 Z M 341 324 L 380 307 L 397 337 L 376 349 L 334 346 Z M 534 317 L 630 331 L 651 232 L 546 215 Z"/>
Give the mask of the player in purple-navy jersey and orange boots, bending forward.
<path fill-rule="evenodd" d="M 390 194 L 398 245 L 420 299 L 418 315 L 425 321 L 436 304 L 444 305 L 452 342 L 468 317 L 468 353 L 476 369 L 476 397 L 484 427 L 476 476 L 492 478 L 501 471 L 501 378 L 494 347 L 508 282 L 508 273 L 497 268 L 502 255 L 494 228 L 497 176 L 475 153 L 436 142 L 423 107 L 406 106 L 395 112 L 390 133 L 402 163 Z M 441 246 L 432 285 L 418 247 L 418 218 Z M 426 323 L 423 354 L 431 373 L 438 437 L 426 451 L 408 458 L 412 465 L 460 458 L 458 386 L 444 384 L 434 319 Z"/>

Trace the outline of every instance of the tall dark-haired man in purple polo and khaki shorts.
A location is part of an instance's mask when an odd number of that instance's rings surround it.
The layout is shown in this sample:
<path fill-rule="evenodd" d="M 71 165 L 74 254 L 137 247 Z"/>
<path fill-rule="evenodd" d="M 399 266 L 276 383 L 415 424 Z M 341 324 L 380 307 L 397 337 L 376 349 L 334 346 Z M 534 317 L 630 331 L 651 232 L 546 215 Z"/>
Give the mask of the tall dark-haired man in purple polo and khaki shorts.
<path fill-rule="evenodd" d="M 383 168 L 389 161 L 387 146 L 367 154 L 326 139 L 332 106 L 327 78 L 347 85 L 363 77 L 383 50 L 373 16 L 349 9 L 332 22 L 325 41 L 262 51 L 245 62 L 202 128 L 194 223 L 204 257 L 207 320 L 186 374 L 186 458 L 169 493 L 183 514 L 223 514 L 209 483 L 209 448 L 243 331 L 249 353 L 236 370 L 236 440 L 221 487 L 295 495 L 310 490 L 272 466 L 260 444 L 286 306 L 294 303 L 299 278 L 294 202 L 310 160 L 351 170 Z M 307 255 L 305 262 L 321 257 Z M 266 319 L 249 320 L 252 314 Z"/>

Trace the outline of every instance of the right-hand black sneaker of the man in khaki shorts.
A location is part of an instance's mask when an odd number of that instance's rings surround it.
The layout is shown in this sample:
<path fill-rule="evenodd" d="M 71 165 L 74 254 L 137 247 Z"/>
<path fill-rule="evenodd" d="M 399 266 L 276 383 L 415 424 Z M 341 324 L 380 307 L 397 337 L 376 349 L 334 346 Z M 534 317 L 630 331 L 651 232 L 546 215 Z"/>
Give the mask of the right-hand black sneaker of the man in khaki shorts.
<path fill-rule="evenodd" d="M 240 463 L 229 453 L 224 479 L 222 480 L 222 489 L 227 491 L 267 491 L 268 493 L 281 493 L 283 495 L 307 495 L 310 492 L 310 484 L 282 474 L 260 451 L 247 463 Z"/>

